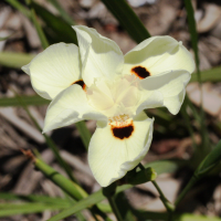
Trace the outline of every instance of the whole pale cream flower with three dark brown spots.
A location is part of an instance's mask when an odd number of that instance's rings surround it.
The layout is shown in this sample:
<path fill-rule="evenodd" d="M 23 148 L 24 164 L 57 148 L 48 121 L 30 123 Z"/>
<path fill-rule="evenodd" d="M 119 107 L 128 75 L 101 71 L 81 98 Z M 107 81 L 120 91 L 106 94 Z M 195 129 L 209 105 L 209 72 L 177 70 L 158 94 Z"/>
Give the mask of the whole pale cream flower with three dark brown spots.
<path fill-rule="evenodd" d="M 177 114 L 194 62 L 170 36 L 152 36 L 125 56 L 94 29 L 73 27 L 78 48 L 59 43 L 22 70 L 50 104 L 44 131 L 96 119 L 88 147 L 94 177 L 106 187 L 135 168 L 147 154 L 152 123 L 145 108 L 166 106 Z"/>

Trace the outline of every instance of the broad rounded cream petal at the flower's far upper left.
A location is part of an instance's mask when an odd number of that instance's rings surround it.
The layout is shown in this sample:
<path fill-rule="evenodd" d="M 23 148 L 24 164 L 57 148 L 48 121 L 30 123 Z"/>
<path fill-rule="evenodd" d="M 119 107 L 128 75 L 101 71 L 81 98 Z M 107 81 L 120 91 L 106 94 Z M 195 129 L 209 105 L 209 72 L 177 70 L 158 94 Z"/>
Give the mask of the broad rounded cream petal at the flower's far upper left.
<path fill-rule="evenodd" d="M 40 96 L 52 99 L 80 80 L 78 48 L 74 44 L 53 44 L 22 66 L 22 70 L 31 76 L 34 91 Z"/>

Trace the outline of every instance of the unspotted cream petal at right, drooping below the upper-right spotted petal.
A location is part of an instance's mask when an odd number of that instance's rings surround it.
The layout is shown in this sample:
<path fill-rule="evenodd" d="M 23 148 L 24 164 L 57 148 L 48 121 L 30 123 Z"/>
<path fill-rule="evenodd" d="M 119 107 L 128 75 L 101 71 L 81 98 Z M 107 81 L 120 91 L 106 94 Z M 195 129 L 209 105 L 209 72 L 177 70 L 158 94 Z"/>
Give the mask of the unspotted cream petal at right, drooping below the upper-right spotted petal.
<path fill-rule="evenodd" d="M 178 70 L 147 77 L 140 81 L 140 85 L 145 90 L 144 94 L 150 92 L 161 93 L 164 104 L 159 104 L 159 106 L 166 106 L 171 114 L 176 115 L 182 105 L 186 85 L 190 77 L 189 72 Z"/>

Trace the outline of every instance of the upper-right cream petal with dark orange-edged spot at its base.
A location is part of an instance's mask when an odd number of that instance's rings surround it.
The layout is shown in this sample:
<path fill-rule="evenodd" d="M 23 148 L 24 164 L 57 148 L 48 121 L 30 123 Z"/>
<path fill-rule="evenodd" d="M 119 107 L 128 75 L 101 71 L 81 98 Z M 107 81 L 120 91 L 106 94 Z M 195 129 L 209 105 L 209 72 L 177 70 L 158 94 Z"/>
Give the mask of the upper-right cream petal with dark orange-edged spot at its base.
<path fill-rule="evenodd" d="M 125 74 L 140 78 L 167 71 L 194 71 L 190 52 L 171 36 L 152 36 L 143 41 L 125 55 Z"/>

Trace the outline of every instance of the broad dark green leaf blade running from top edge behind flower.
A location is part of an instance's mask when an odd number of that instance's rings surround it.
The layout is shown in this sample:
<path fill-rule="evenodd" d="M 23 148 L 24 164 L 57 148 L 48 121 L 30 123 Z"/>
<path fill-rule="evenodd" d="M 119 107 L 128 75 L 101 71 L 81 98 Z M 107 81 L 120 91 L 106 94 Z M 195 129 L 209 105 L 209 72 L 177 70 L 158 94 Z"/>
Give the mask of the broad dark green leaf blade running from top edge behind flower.
<path fill-rule="evenodd" d="M 125 0 L 102 1 L 137 43 L 150 38 L 149 32 Z"/>

